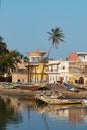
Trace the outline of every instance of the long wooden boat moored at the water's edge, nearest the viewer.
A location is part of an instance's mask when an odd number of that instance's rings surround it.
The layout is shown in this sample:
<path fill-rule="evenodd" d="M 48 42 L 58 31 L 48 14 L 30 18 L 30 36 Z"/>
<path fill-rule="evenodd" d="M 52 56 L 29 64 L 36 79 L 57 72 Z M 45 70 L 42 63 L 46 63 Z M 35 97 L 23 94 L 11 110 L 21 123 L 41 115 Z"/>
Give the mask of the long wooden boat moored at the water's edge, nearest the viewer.
<path fill-rule="evenodd" d="M 51 96 L 38 95 L 36 96 L 38 101 L 52 105 L 67 105 L 67 104 L 82 104 L 80 99 L 60 99 L 52 98 Z"/>

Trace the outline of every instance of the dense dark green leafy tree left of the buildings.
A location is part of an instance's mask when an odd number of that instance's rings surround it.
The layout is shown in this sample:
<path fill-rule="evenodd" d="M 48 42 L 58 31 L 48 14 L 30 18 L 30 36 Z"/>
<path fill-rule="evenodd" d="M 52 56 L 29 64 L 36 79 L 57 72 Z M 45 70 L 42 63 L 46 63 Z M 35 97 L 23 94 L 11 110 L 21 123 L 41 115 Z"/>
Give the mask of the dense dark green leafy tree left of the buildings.
<path fill-rule="evenodd" d="M 0 75 L 11 75 L 15 70 L 17 63 L 21 62 L 23 55 L 17 50 L 8 50 L 4 38 L 0 36 Z"/>

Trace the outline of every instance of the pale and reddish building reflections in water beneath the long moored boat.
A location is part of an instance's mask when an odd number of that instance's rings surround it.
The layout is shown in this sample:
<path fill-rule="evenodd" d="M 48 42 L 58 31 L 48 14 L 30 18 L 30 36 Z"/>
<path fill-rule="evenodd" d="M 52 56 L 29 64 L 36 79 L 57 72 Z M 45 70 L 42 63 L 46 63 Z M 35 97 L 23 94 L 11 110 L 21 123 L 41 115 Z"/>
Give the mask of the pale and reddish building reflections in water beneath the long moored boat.
<path fill-rule="evenodd" d="M 87 121 L 87 107 L 82 104 L 78 105 L 50 105 L 38 107 L 37 110 L 42 113 L 47 113 L 50 118 L 68 120 L 70 123 L 77 124 Z"/>

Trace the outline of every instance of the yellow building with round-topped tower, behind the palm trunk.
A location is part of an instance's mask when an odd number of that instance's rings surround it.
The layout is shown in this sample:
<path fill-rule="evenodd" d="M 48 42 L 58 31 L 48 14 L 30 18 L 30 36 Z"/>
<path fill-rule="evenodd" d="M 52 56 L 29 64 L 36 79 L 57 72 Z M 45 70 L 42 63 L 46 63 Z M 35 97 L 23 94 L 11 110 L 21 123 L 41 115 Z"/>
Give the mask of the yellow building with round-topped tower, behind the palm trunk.
<path fill-rule="evenodd" d="M 45 51 L 34 50 L 28 53 L 29 57 L 29 82 L 41 82 L 48 80 L 48 64 L 42 63 Z M 44 72 L 43 72 L 44 67 Z M 42 73 L 43 72 L 43 73 Z"/>

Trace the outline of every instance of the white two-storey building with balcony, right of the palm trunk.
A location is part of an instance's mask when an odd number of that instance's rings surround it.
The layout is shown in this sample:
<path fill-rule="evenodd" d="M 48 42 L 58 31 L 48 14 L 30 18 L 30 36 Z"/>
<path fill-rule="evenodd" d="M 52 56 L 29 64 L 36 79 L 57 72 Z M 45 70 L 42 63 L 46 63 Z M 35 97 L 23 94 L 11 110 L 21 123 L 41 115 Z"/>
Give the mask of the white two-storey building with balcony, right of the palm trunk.
<path fill-rule="evenodd" d="M 56 83 L 64 79 L 68 81 L 69 61 L 66 60 L 50 60 L 48 62 L 48 79 L 49 83 Z"/>

